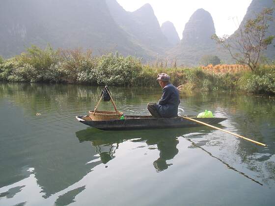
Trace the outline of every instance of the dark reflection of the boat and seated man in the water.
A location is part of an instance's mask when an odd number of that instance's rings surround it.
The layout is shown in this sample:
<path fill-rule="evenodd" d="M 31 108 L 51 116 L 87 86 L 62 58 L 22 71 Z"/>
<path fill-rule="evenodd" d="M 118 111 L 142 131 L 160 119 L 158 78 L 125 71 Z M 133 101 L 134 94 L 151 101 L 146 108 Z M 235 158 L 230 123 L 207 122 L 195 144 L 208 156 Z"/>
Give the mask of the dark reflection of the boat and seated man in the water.
<path fill-rule="evenodd" d="M 173 159 L 179 152 L 177 149 L 178 137 L 197 131 L 197 128 L 134 131 L 102 131 L 88 128 L 76 132 L 76 136 L 80 142 L 90 141 L 104 164 L 115 157 L 115 151 L 124 141 L 145 142 L 148 146 L 157 146 L 157 148 L 149 147 L 149 149 L 159 150 L 159 158 L 153 162 L 153 165 L 158 172 L 161 172 L 172 165 L 166 161 Z M 209 132 L 211 130 L 204 131 L 204 134 Z"/>

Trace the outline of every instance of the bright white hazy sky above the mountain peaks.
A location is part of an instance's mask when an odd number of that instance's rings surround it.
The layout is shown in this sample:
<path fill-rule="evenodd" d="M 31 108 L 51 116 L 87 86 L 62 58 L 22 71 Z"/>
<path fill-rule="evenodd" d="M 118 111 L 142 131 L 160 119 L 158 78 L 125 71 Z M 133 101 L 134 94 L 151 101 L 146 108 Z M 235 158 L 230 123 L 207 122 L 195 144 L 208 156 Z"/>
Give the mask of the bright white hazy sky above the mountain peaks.
<path fill-rule="evenodd" d="M 170 21 L 176 27 L 180 38 L 185 24 L 199 8 L 210 12 L 218 36 L 232 34 L 241 23 L 252 0 L 117 0 L 126 11 L 135 11 L 150 3 L 160 26 Z"/>

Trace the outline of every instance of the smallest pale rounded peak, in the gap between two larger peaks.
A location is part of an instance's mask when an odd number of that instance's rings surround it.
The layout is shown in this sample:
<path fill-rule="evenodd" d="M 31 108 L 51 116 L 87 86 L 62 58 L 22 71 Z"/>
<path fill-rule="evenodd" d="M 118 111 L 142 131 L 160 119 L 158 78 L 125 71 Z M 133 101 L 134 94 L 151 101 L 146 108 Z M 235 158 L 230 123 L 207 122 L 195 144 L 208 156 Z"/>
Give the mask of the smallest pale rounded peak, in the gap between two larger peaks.
<path fill-rule="evenodd" d="M 172 22 L 167 21 L 163 23 L 161 28 L 163 34 L 172 46 L 176 46 L 178 43 L 180 43 L 180 37 Z"/>

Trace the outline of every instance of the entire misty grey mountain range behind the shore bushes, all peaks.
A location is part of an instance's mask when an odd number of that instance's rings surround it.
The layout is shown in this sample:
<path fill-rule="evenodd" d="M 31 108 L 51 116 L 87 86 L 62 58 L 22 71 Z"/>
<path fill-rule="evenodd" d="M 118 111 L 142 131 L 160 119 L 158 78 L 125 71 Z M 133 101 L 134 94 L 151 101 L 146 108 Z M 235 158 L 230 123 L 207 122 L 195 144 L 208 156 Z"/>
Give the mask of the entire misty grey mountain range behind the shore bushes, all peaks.
<path fill-rule="evenodd" d="M 252 0 L 241 23 L 255 16 L 273 0 Z M 150 4 L 128 12 L 116 0 L 1 0 L 0 55 L 8 58 L 36 45 L 45 48 L 91 49 L 94 55 L 118 51 L 136 55 L 143 62 L 158 58 L 176 60 L 177 64 L 198 65 L 205 54 L 230 61 L 218 48 L 212 16 L 196 10 L 185 25 L 180 40 L 174 25 L 159 25 Z M 275 25 L 269 35 L 275 35 Z M 273 58 L 274 48 L 268 56 Z"/>

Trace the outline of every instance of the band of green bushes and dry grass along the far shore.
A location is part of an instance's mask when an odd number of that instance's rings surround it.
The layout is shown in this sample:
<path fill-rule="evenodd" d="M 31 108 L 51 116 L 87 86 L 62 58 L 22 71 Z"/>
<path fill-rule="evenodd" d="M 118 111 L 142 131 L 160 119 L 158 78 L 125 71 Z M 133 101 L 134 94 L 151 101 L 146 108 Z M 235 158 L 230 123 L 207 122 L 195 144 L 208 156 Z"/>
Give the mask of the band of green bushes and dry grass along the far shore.
<path fill-rule="evenodd" d="M 204 91 L 238 90 L 275 94 L 275 69 L 262 66 L 257 73 L 242 65 L 196 68 L 161 68 L 142 65 L 134 56 L 118 53 L 92 56 L 90 51 L 41 50 L 31 47 L 18 56 L 0 59 L 0 80 L 16 82 L 63 82 L 92 85 L 158 86 L 159 73 L 168 74 L 176 86 Z"/>

